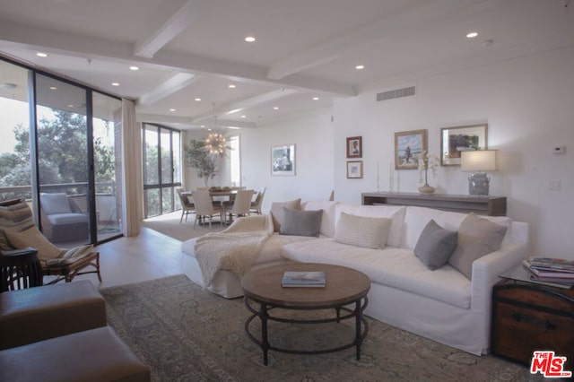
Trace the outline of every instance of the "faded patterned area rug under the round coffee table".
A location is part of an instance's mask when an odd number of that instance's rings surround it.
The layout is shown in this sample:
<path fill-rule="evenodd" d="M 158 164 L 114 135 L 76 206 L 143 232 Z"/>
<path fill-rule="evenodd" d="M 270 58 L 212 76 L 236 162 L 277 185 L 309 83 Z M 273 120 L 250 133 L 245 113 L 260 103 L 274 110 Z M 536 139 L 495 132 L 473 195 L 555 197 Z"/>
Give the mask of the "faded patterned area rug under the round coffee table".
<path fill-rule="evenodd" d="M 101 294 L 107 302 L 109 325 L 152 368 L 154 381 L 542 379 L 515 363 L 476 357 L 373 319 L 361 346 L 361 360 L 355 359 L 354 348 L 318 355 L 271 351 L 264 366 L 261 349 L 244 331 L 249 314 L 242 299 L 222 299 L 183 274 L 103 289 Z M 257 321 L 254 334 L 259 333 Z M 353 322 L 270 323 L 269 333 L 275 346 L 326 349 L 349 342 Z"/>

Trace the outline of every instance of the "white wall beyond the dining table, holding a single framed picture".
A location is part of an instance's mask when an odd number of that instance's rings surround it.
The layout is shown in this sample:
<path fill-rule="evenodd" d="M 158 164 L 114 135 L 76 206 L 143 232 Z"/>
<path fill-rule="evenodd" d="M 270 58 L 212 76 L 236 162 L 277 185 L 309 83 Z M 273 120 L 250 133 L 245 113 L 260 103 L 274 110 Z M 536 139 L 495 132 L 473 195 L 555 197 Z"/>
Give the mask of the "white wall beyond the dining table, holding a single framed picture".
<path fill-rule="evenodd" d="M 267 187 L 263 209 L 296 198 L 327 200 L 334 185 L 332 110 L 241 130 L 241 186 Z M 271 175 L 271 147 L 295 144 L 295 176 Z"/>

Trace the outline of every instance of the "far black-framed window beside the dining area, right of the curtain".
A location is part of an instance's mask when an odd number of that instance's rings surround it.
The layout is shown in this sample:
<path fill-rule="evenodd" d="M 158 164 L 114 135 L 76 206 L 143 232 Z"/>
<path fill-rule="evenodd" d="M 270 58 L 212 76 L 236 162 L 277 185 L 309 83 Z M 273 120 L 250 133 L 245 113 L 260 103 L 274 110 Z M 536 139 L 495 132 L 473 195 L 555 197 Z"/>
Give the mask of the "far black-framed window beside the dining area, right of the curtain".
<path fill-rule="evenodd" d="M 181 134 L 163 126 L 143 124 L 143 199 L 145 217 L 179 208 Z"/>

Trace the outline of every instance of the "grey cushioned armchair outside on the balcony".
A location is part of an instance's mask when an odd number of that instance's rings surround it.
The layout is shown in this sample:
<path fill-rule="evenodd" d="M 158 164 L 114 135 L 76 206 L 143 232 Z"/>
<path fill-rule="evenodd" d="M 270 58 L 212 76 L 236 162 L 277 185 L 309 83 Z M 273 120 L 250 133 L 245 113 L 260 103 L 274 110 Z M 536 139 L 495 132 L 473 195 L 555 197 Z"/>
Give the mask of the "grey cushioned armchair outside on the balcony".
<path fill-rule="evenodd" d="M 40 194 L 42 230 L 52 243 L 88 239 L 90 219 L 65 193 Z"/>

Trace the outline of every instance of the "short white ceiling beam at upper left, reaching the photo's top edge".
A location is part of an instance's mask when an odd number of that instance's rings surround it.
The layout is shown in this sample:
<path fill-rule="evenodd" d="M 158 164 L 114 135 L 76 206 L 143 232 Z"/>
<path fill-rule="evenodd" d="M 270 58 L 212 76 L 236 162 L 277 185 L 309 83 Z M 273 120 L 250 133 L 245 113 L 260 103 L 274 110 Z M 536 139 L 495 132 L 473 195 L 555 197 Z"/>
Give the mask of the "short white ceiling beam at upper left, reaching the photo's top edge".
<path fill-rule="evenodd" d="M 154 30 L 152 35 L 140 39 L 135 44 L 134 55 L 152 58 L 179 33 L 186 30 L 189 25 L 201 19 L 215 3 L 217 1 L 188 0 L 158 30 Z"/>

